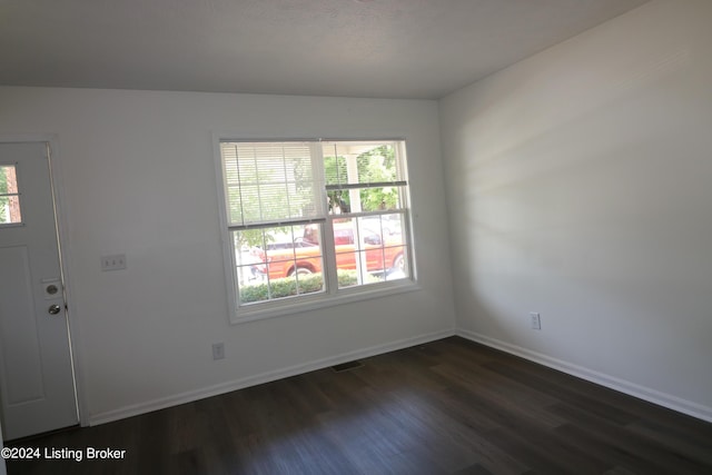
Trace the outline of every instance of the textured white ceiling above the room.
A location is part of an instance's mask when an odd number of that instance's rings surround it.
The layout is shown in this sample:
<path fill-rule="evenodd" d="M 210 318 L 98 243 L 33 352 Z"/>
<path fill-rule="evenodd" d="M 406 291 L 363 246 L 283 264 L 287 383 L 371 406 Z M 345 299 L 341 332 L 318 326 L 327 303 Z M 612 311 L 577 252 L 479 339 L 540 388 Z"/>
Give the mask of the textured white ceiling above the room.
<path fill-rule="evenodd" d="M 647 0 L 0 0 L 0 85 L 435 99 Z"/>

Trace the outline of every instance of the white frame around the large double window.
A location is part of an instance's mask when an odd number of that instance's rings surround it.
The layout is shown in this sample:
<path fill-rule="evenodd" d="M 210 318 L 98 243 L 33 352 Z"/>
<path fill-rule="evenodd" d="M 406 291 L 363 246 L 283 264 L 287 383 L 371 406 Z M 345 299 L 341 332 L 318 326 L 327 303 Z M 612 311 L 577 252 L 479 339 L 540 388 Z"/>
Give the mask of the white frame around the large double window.
<path fill-rule="evenodd" d="M 323 293 L 314 293 L 314 294 L 305 294 L 300 296 L 281 298 L 275 300 L 265 300 L 261 303 L 255 303 L 250 305 L 239 305 L 239 296 L 238 296 L 238 283 L 236 280 L 235 269 L 235 249 L 234 243 L 230 238 L 230 230 L 228 226 L 228 210 L 226 205 L 226 188 L 225 188 L 225 179 L 224 179 L 224 169 L 222 169 L 222 156 L 220 151 L 220 144 L 225 141 L 245 141 L 245 142 L 288 142 L 288 141 L 309 141 L 309 142 L 320 142 L 320 141 L 393 141 L 399 142 L 400 147 L 404 149 L 399 152 L 405 152 L 405 142 L 406 140 L 403 138 L 374 138 L 369 137 L 367 139 L 358 138 L 349 138 L 349 139 L 315 139 L 315 138 L 273 138 L 273 137 L 243 137 L 234 133 L 215 133 L 214 135 L 214 157 L 215 157 L 215 169 L 216 169 L 216 178 L 217 178 L 217 191 L 218 191 L 218 211 L 220 218 L 220 238 L 222 244 L 222 255 L 224 255 L 224 267 L 225 267 L 225 279 L 226 279 L 226 290 L 228 298 L 228 311 L 229 311 L 229 320 L 233 324 L 239 324 L 245 321 L 253 321 L 263 318 L 271 318 L 284 315 L 291 315 L 303 311 L 308 311 L 318 308 L 325 308 L 336 305 L 343 305 L 347 303 L 373 299 L 378 297 L 392 296 L 397 294 L 403 294 L 407 291 L 419 290 L 421 286 L 417 283 L 417 274 L 416 274 L 416 265 L 415 265 L 415 243 L 413 238 L 412 230 L 412 209 L 411 209 L 411 198 L 409 198 L 409 182 L 405 190 L 405 212 L 404 212 L 404 245 L 407 248 L 407 255 L 405 256 L 407 267 L 409 269 L 409 277 L 396 280 L 386 280 L 384 283 L 369 284 L 369 285 L 358 285 L 346 288 L 338 288 L 337 278 L 336 278 L 336 255 L 334 253 L 334 234 L 332 228 L 332 216 L 328 215 L 328 211 L 325 210 L 324 217 L 325 220 L 322 224 L 322 243 L 323 243 L 323 255 L 324 255 L 324 266 L 323 266 L 323 275 L 324 275 L 324 284 L 325 291 Z M 407 181 L 407 156 L 403 161 L 403 166 L 405 167 L 405 175 Z M 323 169 L 320 169 L 323 170 Z M 322 186 L 320 192 L 324 194 L 324 198 L 326 198 L 326 187 Z M 340 216 L 340 215 L 339 215 Z M 344 215 L 345 217 L 348 215 Z"/>

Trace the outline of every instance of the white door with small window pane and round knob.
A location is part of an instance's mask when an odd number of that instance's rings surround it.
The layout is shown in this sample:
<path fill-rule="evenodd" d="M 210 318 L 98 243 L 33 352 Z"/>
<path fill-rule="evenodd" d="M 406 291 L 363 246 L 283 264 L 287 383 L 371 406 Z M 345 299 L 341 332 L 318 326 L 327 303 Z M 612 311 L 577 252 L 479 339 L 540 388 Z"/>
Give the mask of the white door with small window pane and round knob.
<path fill-rule="evenodd" d="M 0 399 L 6 441 L 76 425 L 47 144 L 0 144 Z"/>

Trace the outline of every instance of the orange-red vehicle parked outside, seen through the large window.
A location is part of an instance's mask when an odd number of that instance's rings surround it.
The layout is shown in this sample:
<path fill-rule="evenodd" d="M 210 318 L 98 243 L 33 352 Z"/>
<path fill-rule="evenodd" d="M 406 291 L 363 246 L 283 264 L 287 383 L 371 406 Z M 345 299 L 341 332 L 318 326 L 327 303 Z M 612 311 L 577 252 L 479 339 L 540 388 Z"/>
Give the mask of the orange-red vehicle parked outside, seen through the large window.
<path fill-rule="evenodd" d="M 399 236 L 387 236 L 384 240 L 372 229 L 360 228 L 359 232 L 362 245 L 357 248 L 353 224 L 334 224 L 338 269 L 356 269 L 356 259 L 360 249 L 365 254 L 368 273 L 386 273 L 394 269 L 404 271 L 404 246 Z M 290 277 L 295 274 L 320 273 L 323 256 L 319 240 L 318 226 L 308 225 L 304 228 L 304 236 L 296 238 L 294 243 L 268 246 L 266 251 L 256 249 L 255 254 L 260 263 L 253 266 L 253 273 L 261 276 L 269 275 L 270 279 Z"/>

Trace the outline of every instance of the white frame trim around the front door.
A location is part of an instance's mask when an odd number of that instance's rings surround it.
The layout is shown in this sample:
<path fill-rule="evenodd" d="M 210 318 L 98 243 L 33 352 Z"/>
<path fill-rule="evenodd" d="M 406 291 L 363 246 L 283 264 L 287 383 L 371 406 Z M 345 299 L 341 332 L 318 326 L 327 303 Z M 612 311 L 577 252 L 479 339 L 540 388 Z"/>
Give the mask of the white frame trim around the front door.
<path fill-rule="evenodd" d="M 71 273 L 71 249 L 69 246 L 69 227 L 67 224 L 67 200 L 65 198 L 65 186 L 60 167 L 59 137 L 57 133 L 0 133 L 0 144 L 47 144 L 49 147 L 49 178 L 52 187 L 52 198 L 55 201 L 55 219 L 57 228 L 59 264 L 65 286 L 65 303 L 67 304 L 67 324 L 69 335 L 70 359 L 75 374 L 75 395 L 77 397 L 77 410 L 79 413 L 79 424 L 82 427 L 89 425 L 89 410 L 83 397 L 83 368 L 80 362 L 81 345 L 79 345 L 79 325 L 77 320 L 77 303 L 72 298 L 72 273 Z"/>

